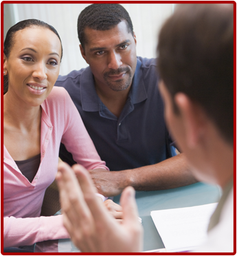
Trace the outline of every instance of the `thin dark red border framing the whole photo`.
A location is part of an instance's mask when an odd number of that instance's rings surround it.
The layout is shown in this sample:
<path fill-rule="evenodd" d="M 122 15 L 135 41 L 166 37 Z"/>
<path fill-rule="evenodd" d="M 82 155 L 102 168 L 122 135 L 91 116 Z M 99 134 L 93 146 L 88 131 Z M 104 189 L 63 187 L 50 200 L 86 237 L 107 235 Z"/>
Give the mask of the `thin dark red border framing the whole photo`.
<path fill-rule="evenodd" d="M 98 3 L 98 1 L 1 1 L 1 53 L 3 53 L 4 3 Z M 236 1 L 100 1 L 100 3 L 233 3 L 234 4 L 234 70 L 236 70 Z M 1 59 L 3 74 L 3 58 Z M 3 85 L 3 76 L 1 76 Z M 1 87 L 1 170 L 3 170 L 3 86 Z M 236 72 L 234 73 L 234 170 L 236 170 Z M 1 171 L 1 245 L 3 244 L 3 171 Z M 184 253 L 34 253 L 34 255 L 183 255 Z M 32 253 L 3 253 L 1 255 L 32 255 Z M 236 255 L 236 171 L 234 171 L 234 253 L 185 253 L 185 255 Z"/>

